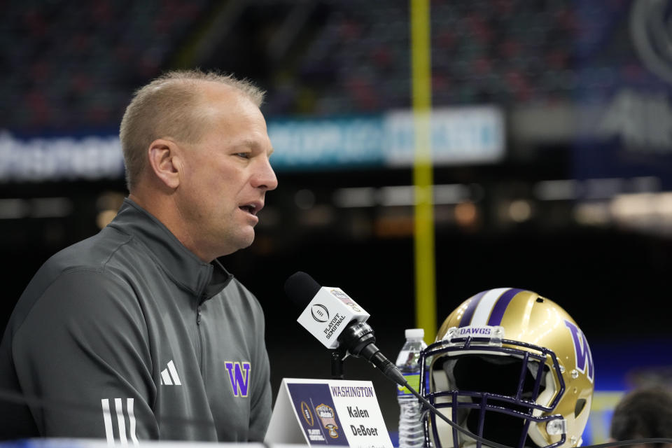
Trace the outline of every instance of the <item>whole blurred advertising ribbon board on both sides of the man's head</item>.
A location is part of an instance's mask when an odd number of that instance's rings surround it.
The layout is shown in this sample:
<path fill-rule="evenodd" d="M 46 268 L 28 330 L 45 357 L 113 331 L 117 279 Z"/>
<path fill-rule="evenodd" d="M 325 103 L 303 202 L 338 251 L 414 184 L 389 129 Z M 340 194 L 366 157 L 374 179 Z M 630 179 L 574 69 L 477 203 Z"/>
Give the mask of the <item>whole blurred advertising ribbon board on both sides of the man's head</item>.
<path fill-rule="evenodd" d="M 490 106 L 435 109 L 431 116 L 437 165 L 497 162 L 504 156 L 503 113 Z M 411 111 L 377 116 L 269 120 L 277 170 L 411 166 Z M 116 135 L 20 138 L 0 132 L 0 182 L 121 179 Z"/>

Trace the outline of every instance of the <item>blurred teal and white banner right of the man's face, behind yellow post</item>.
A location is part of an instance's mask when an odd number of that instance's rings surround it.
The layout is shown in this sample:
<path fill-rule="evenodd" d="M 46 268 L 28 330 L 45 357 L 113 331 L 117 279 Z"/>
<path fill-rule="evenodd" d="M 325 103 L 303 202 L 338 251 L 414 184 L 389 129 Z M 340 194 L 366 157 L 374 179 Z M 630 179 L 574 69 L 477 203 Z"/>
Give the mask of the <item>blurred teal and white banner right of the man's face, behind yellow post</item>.
<path fill-rule="evenodd" d="M 503 113 L 491 106 L 437 108 L 431 115 L 436 165 L 498 162 L 505 154 Z M 414 160 L 411 111 L 377 116 L 274 120 L 268 133 L 276 169 L 409 167 Z"/>

